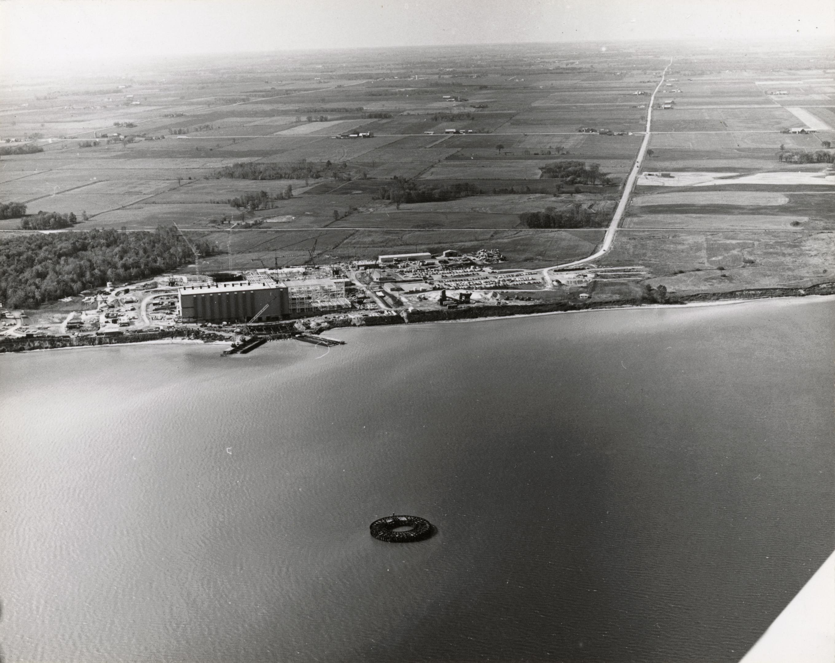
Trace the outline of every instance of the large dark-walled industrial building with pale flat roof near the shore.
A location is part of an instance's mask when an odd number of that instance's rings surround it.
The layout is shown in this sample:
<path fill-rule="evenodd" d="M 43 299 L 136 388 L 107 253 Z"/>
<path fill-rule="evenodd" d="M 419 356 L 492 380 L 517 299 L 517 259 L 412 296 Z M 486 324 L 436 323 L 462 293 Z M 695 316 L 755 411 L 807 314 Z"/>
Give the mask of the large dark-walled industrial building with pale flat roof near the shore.
<path fill-rule="evenodd" d="M 266 310 L 261 311 L 266 306 Z M 290 314 L 286 283 L 233 281 L 180 288 L 180 315 L 184 321 L 246 322 L 278 320 Z"/>

